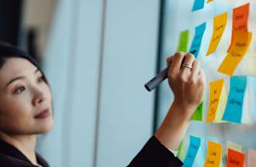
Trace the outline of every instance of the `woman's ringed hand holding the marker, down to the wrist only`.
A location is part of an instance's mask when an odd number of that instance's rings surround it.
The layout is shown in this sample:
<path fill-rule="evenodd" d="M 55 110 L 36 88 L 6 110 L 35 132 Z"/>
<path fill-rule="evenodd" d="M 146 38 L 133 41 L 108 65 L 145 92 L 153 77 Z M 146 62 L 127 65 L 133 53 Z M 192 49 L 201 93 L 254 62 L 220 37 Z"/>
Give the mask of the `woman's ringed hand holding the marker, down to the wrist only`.
<path fill-rule="evenodd" d="M 200 68 L 199 61 L 190 53 L 175 53 L 167 61 L 168 83 L 175 96 L 173 105 L 182 109 L 180 113 L 174 114 L 189 121 L 203 99 L 205 73 Z"/>

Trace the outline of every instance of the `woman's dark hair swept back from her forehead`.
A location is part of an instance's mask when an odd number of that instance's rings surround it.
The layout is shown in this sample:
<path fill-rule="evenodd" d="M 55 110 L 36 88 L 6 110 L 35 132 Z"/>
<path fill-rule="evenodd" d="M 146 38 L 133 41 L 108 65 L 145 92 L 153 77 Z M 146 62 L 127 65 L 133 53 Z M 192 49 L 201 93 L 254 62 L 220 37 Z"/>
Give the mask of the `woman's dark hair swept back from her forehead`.
<path fill-rule="evenodd" d="M 36 62 L 36 60 L 33 59 L 33 57 L 29 56 L 28 53 L 16 46 L 12 46 L 9 43 L 0 41 L 0 69 L 5 64 L 6 59 L 9 57 L 18 57 L 29 60 L 30 63 L 33 63 L 33 65 L 36 66 L 38 70 L 40 70 L 40 72 L 43 74 L 43 80 L 49 85 L 43 70 L 41 70 L 39 64 Z"/>

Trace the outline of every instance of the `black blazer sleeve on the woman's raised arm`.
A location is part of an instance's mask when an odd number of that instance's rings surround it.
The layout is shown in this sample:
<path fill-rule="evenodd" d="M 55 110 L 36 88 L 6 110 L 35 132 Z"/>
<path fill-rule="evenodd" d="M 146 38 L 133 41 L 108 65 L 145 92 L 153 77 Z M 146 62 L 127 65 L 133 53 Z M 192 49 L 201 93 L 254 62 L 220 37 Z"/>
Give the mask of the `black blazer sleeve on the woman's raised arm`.
<path fill-rule="evenodd" d="M 176 158 L 175 155 L 165 148 L 154 135 L 147 141 L 144 148 L 133 158 L 132 162 L 128 167 L 176 167 L 182 166 L 183 163 L 179 158 Z"/>

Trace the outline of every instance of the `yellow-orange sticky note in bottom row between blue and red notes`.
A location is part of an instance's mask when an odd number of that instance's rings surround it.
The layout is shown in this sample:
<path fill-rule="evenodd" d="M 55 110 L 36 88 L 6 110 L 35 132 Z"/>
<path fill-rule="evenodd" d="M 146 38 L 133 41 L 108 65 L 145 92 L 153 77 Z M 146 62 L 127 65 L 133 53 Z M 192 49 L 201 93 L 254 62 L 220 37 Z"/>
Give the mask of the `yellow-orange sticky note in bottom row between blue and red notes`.
<path fill-rule="evenodd" d="M 219 167 L 222 157 L 222 145 L 208 141 L 208 150 L 204 167 Z"/>

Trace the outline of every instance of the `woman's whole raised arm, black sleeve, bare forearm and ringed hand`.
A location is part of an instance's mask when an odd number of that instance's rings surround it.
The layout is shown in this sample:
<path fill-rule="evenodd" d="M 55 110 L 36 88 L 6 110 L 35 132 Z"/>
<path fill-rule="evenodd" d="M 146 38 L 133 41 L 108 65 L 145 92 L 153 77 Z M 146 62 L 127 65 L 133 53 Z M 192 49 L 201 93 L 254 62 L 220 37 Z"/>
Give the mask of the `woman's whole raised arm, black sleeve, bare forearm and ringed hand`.
<path fill-rule="evenodd" d="M 175 96 L 168 114 L 155 135 L 133 158 L 129 166 L 182 166 L 171 150 L 177 150 L 196 107 L 203 99 L 206 77 L 192 54 L 168 57 L 168 83 Z"/>

